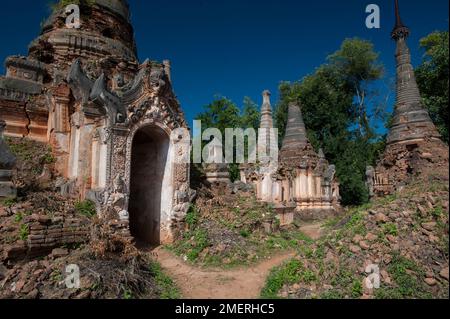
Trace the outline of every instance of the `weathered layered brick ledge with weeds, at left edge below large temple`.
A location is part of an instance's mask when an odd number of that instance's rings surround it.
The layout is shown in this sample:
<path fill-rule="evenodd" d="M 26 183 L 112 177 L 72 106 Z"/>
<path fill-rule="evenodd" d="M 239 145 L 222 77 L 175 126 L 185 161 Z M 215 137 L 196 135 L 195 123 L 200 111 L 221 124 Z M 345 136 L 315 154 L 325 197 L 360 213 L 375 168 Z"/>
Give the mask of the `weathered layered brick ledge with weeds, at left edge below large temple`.
<path fill-rule="evenodd" d="M 73 201 L 64 202 L 50 193 L 46 196 L 46 203 L 36 204 L 42 195 L 34 195 L 26 202 L 0 209 L 0 261 L 7 263 L 45 255 L 55 248 L 89 241 L 91 221 L 77 214 Z"/>

